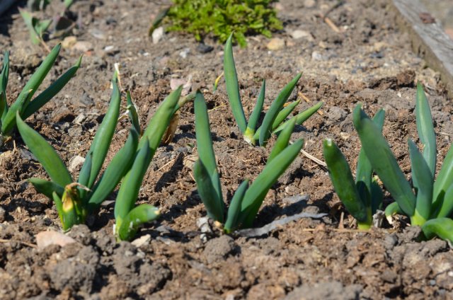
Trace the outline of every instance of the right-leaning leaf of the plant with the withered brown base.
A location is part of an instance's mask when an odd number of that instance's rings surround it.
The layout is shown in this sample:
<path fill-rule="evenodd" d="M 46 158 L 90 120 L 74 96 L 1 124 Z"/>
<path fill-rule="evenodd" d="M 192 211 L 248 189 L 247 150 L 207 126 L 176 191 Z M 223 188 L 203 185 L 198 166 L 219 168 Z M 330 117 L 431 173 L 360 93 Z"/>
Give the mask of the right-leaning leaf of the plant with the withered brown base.
<path fill-rule="evenodd" d="M 88 202 L 89 212 L 93 212 L 101 205 L 105 198 L 115 189 L 117 184 L 120 183 L 121 178 L 129 171 L 134 162 L 138 139 L 137 132 L 131 129 L 125 145 L 113 156 L 102 177 L 84 200 L 84 202 Z"/>

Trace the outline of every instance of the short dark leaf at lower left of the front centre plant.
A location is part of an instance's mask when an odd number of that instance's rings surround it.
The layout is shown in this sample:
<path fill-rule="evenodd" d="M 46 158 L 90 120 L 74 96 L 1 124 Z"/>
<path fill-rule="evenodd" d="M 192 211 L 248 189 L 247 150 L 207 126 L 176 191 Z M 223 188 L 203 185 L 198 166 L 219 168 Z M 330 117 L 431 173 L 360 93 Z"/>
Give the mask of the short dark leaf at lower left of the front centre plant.
<path fill-rule="evenodd" d="M 214 188 L 210 173 L 200 158 L 193 164 L 193 177 L 197 183 L 198 195 L 205 204 L 207 216 L 223 223 L 224 204 L 219 202 L 219 195 Z"/>

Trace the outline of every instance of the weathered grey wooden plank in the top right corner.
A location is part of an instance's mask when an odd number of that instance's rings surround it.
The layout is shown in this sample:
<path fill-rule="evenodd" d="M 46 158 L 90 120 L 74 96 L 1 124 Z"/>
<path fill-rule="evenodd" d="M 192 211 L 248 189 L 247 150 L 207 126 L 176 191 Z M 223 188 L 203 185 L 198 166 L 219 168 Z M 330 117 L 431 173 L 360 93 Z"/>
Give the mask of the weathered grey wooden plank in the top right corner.
<path fill-rule="evenodd" d="M 413 51 L 425 59 L 453 97 L 453 40 L 435 23 L 419 0 L 391 0 L 399 18 L 397 25 L 408 31 Z"/>

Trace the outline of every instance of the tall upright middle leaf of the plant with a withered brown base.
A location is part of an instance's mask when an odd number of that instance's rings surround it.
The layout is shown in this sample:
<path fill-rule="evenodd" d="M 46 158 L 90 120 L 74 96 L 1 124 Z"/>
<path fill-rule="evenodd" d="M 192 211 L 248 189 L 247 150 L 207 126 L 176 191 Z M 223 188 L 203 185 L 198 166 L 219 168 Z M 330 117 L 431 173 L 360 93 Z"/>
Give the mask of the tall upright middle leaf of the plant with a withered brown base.
<path fill-rule="evenodd" d="M 118 88 L 117 81 L 113 80 L 112 85 L 113 91 L 107 113 L 105 113 L 104 119 L 101 122 L 101 125 L 99 125 L 93 142 L 91 143 L 90 150 L 88 151 L 88 155 L 91 154 L 92 156 L 91 170 L 89 173 L 86 171 L 88 163 L 85 162 L 80 172 L 81 174 L 84 174 L 84 176 L 79 176 L 79 183 L 87 188 L 92 188 L 96 178 L 98 178 L 99 171 L 101 171 L 108 148 L 112 142 L 113 134 L 115 133 L 118 116 L 120 115 L 120 89 Z M 86 178 L 86 175 L 89 175 L 89 177 Z M 82 195 L 82 197 L 83 196 L 84 195 Z"/>

